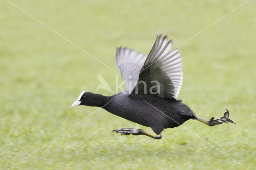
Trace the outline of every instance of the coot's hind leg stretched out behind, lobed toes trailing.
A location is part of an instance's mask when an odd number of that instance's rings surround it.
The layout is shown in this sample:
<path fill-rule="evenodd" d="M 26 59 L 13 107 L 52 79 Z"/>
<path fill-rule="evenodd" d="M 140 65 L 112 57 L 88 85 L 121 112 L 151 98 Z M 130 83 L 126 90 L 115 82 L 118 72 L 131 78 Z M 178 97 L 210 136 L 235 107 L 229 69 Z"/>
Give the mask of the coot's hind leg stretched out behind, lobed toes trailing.
<path fill-rule="evenodd" d="M 220 125 L 222 123 L 234 123 L 232 120 L 228 119 L 228 116 L 229 116 L 229 111 L 226 109 L 226 112 L 224 113 L 224 116 L 221 117 L 220 119 L 216 119 L 214 120 L 214 117 L 212 117 L 210 119 L 210 121 L 206 121 L 205 119 L 202 119 L 200 117 L 197 117 L 197 120 L 202 122 L 202 123 L 205 123 L 206 125 L 209 125 L 209 126 L 215 126 L 215 125 Z"/>

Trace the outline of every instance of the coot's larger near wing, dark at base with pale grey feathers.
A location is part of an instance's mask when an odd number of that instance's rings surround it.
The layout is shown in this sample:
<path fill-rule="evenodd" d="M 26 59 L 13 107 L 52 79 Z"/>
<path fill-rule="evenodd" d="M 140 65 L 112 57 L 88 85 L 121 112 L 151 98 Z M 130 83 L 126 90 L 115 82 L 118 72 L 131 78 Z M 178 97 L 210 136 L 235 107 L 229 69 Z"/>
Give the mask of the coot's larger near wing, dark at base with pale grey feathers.
<path fill-rule="evenodd" d="M 182 58 L 178 49 L 172 50 L 172 46 L 173 42 L 168 42 L 167 36 L 157 36 L 131 94 L 154 93 L 162 98 L 177 100 L 183 79 Z"/>

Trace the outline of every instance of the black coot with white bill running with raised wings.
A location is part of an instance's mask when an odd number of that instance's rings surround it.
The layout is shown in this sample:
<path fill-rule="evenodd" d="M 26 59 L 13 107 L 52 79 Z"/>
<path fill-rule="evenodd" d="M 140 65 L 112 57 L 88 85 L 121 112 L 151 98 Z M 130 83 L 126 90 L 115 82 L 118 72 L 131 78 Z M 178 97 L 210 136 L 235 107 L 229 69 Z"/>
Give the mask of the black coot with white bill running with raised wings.
<path fill-rule="evenodd" d="M 234 123 L 228 119 L 228 110 L 224 117 L 206 121 L 177 99 L 183 79 L 182 58 L 178 49 L 172 50 L 172 46 L 172 40 L 159 35 L 148 56 L 127 47 L 117 48 L 116 65 L 126 83 L 126 91 L 113 96 L 82 91 L 72 107 L 102 107 L 114 115 L 152 128 L 156 135 L 134 128 L 113 130 L 116 133 L 143 134 L 154 139 L 162 138 L 164 128 L 178 127 L 189 119 L 209 126 Z"/>

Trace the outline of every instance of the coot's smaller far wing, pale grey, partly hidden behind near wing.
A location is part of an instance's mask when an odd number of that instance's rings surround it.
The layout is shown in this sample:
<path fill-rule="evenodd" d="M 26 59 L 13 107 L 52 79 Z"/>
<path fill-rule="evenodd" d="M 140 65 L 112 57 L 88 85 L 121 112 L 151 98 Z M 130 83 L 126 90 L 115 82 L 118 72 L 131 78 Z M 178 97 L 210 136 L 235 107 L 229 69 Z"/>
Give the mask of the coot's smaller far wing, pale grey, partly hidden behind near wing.
<path fill-rule="evenodd" d="M 137 53 L 134 49 L 127 47 L 116 49 L 116 66 L 125 81 L 126 91 L 132 91 L 135 87 L 146 58 L 146 55 Z"/>

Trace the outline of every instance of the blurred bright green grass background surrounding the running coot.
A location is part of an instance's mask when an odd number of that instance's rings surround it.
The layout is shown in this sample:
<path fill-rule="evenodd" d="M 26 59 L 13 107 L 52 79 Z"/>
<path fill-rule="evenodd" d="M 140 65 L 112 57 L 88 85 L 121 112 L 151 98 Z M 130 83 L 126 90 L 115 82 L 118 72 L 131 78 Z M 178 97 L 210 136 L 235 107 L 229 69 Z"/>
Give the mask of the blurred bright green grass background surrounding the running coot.
<path fill-rule="evenodd" d="M 102 75 L 115 89 L 117 46 L 148 54 L 160 33 L 174 48 L 245 2 L 12 0 L 96 61 L 6 0 L 0 0 L 0 164 L 8 169 L 98 108 L 71 104 L 94 92 Z M 256 161 L 256 4 L 251 0 L 180 46 L 179 95 L 199 116 L 236 124 L 184 123 L 243 166 Z M 113 95 L 104 90 L 97 93 Z M 148 127 L 100 109 L 13 169 L 242 169 L 183 127 L 161 140 L 120 136 L 115 128 Z"/>

